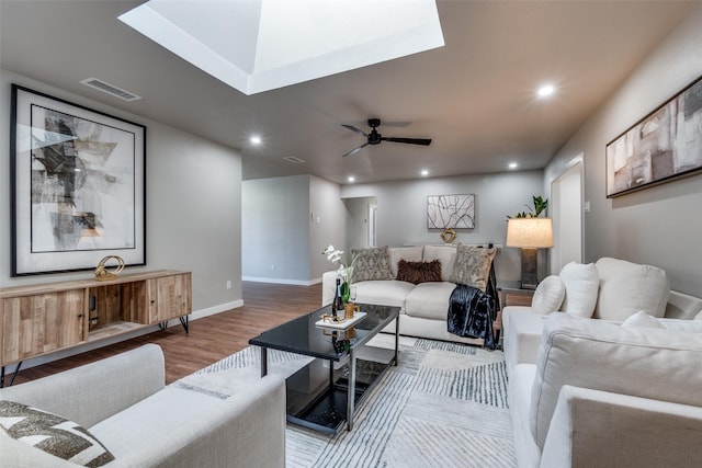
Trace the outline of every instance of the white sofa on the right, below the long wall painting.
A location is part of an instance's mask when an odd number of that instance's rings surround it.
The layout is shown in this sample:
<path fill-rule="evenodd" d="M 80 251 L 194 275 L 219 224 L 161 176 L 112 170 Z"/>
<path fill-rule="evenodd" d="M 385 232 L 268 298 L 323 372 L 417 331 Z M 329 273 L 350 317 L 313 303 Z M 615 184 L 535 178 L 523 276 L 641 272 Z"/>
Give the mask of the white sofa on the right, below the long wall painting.
<path fill-rule="evenodd" d="M 669 292 L 648 265 L 582 269 L 597 271 L 596 297 L 570 282 L 565 303 L 590 304 L 592 318 L 537 310 L 543 292 L 532 307 L 502 310 L 519 466 L 700 466 L 702 299 Z"/>

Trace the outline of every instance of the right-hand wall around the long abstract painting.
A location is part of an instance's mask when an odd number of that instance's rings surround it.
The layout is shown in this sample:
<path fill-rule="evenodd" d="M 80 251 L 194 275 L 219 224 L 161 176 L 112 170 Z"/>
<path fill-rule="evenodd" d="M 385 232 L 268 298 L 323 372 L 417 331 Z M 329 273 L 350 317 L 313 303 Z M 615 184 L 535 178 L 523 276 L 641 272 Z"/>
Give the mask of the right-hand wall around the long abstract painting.
<path fill-rule="evenodd" d="M 673 289 L 702 296 L 702 175 L 605 197 L 605 145 L 702 76 L 702 3 L 558 151 L 547 187 L 585 153 L 585 261 L 614 256 L 666 270 Z"/>

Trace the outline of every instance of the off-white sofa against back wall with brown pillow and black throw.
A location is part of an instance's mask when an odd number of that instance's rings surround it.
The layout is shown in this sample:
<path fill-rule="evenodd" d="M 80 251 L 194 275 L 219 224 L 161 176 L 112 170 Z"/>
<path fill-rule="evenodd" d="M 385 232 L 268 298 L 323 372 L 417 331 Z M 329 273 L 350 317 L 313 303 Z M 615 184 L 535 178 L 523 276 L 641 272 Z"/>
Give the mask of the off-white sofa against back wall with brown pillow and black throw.
<path fill-rule="evenodd" d="M 476 246 L 465 247 L 477 248 Z M 358 281 L 353 282 L 353 286 L 356 289 L 356 303 L 399 307 L 399 333 L 404 335 L 483 344 L 484 340 L 480 338 L 463 338 L 449 333 L 446 331 L 446 315 L 449 299 L 457 281 L 473 283 L 478 287 L 483 286 L 483 289 L 487 288 L 496 249 L 487 248 L 487 246 L 479 249 L 480 259 L 489 262 L 487 265 L 461 262 L 458 259 L 461 271 L 456 271 L 455 267 L 457 251 L 462 249 L 460 246 L 390 247 L 375 250 L 384 249 L 387 249 L 388 252 L 388 265 L 381 265 L 380 269 L 374 269 L 373 273 L 359 271 L 359 265 L 355 266 L 354 276 Z M 410 277 L 403 275 L 400 269 L 403 261 L 415 265 L 439 262 L 440 272 L 437 272 L 437 277 L 430 278 L 431 281 L 415 284 L 403 279 L 410 279 Z M 372 263 L 376 267 L 383 261 Z M 475 274 L 468 271 L 473 271 Z M 322 275 L 322 306 L 331 304 L 333 299 L 336 278 L 336 271 L 326 272 Z M 388 326 L 388 331 L 392 329 L 394 332 L 394 323 Z"/>

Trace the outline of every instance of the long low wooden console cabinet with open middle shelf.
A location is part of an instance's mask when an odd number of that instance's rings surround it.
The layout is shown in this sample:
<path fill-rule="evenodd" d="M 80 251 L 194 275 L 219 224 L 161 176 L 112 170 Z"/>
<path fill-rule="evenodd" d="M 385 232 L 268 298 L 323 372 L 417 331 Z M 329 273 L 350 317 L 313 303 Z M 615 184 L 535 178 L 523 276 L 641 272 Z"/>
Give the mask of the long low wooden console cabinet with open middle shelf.
<path fill-rule="evenodd" d="M 192 311 L 190 272 L 158 271 L 0 289 L 0 365 L 180 318 Z M 4 373 L 3 373 L 4 374 Z"/>

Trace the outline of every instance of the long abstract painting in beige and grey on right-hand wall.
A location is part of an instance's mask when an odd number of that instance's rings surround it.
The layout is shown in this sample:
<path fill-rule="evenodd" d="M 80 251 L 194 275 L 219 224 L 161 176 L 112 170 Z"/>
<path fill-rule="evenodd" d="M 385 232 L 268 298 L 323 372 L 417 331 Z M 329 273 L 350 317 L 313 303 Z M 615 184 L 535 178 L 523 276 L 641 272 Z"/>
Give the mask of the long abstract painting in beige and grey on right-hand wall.
<path fill-rule="evenodd" d="M 607 145 L 607 197 L 702 170 L 702 78 Z"/>

